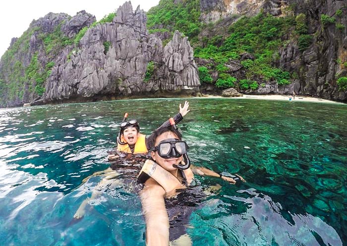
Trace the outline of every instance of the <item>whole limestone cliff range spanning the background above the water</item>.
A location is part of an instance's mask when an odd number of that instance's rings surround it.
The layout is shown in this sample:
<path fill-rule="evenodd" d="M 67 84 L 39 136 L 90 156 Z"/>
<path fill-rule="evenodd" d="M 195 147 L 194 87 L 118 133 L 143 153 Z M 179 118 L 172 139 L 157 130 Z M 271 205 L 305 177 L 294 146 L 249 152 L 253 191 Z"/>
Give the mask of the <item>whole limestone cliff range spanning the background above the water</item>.
<path fill-rule="evenodd" d="M 195 95 L 199 90 L 220 94 L 221 89 L 215 84 L 222 76 L 236 79 L 235 87 L 241 93 L 295 92 L 347 101 L 347 90 L 337 83 L 341 77 L 347 80 L 346 0 L 200 0 L 200 5 L 197 2 L 161 1 L 157 9 L 165 9 L 168 4 L 170 11 L 179 9 L 181 17 L 186 19 L 177 20 L 164 14 L 164 21 L 152 21 L 154 25 L 149 25 L 153 34 L 147 29 L 146 13 L 139 7 L 133 11 L 130 2 L 120 6 L 107 21 L 96 22 L 95 17 L 85 11 L 73 17 L 49 13 L 34 20 L 21 37 L 11 40 L 9 49 L 1 57 L 0 107 Z M 148 16 L 159 19 L 158 16 L 165 13 L 156 16 L 154 12 L 149 11 Z M 257 88 L 242 89 L 239 81 L 250 76 L 242 62 L 255 61 L 256 55 L 262 54 L 252 53 L 250 49 L 238 52 L 238 58 L 221 62 L 210 56 L 198 58 L 197 49 L 205 48 L 206 41 L 214 40 L 218 50 L 224 41 L 231 40 L 235 30 L 230 31 L 230 27 L 235 22 L 260 12 L 277 19 L 292 17 L 293 26 L 278 37 L 276 41 L 280 40 L 281 45 L 271 50 L 270 55 L 273 57 L 271 66 L 291 74 L 290 84 L 279 85 L 274 78 L 252 75 Z M 295 27 L 300 14 L 304 16 L 301 22 L 307 27 L 302 33 Z M 195 19 L 189 19 L 190 15 Z M 175 31 L 180 28 L 189 36 L 196 58 L 188 38 Z M 272 30 L 268 31 L 274 35 Z M 304 48 L 300 46 L 300 36 L 311 39 Z M 223 52 L 230 50 L 225 46 Z M 212 83 L 200 86 L 198 66 L 211 68 L 208 75 L 212 76 Z"/>

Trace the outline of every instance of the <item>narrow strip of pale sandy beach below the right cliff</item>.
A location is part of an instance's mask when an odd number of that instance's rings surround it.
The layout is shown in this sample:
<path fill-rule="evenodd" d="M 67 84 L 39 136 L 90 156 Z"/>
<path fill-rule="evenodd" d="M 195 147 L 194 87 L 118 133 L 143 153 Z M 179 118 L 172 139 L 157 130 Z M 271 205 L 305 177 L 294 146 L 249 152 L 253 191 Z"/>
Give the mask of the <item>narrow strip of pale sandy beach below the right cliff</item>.
<path fill-rule="evenodd" d="M 221 97 L 221 96 L 208 96 L 208 97 Z M 227 98 L 227 97 L 226 97 Z M 243 95 L 242 97 L 230 97 L 232 99 L 260 99 L 260 100 L 282 100 L 289 101 L 289 95 Z M 315 97 L 295 96 L 295 99 L 291 99 L 290 102 L 317 102 L 317 103 L 338 103 L 340 102 L 330 101 L 326 99 L 320 99 Z"/>

